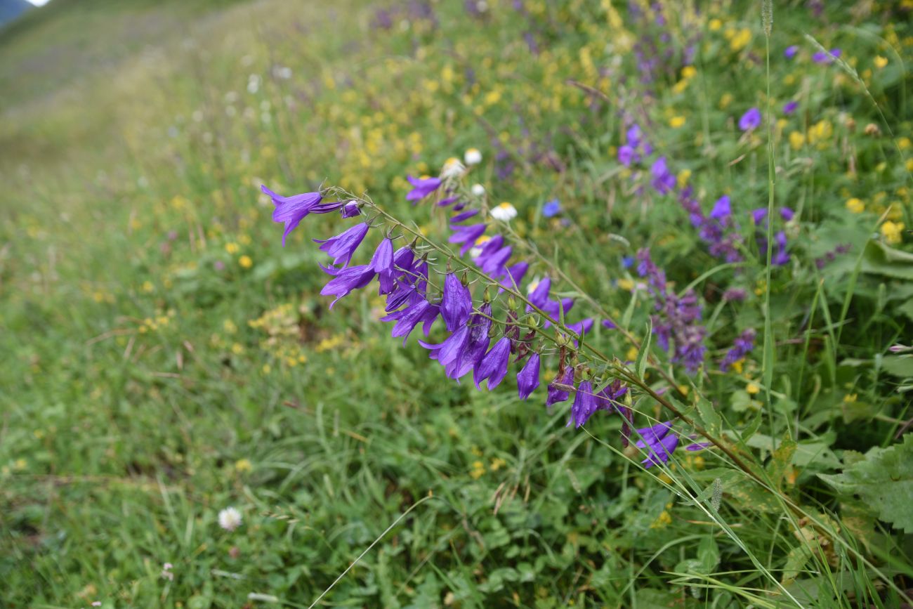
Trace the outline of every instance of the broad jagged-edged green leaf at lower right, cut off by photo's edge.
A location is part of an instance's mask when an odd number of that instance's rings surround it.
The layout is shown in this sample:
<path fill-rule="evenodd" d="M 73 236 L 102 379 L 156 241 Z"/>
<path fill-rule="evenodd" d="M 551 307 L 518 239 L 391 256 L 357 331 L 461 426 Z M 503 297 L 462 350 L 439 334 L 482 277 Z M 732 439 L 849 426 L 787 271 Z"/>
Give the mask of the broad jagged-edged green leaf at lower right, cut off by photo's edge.
<path fill-rule="evenodd" d="M 902 444 L 872 448 L 843 473 L 819 477 L 844 495 L 858 495 L 879 519 L 913 533 L 913 434 Z"/>

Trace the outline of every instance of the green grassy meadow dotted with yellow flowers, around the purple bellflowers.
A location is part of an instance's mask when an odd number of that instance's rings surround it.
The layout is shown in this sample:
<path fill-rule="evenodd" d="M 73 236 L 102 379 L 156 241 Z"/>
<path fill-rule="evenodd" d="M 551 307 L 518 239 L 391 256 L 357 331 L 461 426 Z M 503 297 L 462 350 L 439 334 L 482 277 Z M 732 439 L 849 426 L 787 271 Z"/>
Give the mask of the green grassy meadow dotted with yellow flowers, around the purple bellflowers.
<path fill-rule="evenodd" d="M 676 58 L 648 98 L 630 45 L 659 30 L 618 3 L 620 23 L 587 2 L 522 14 L 500 0 L 480 19 L 437 3 L 436 25 L 401 12 L 391 30 L 372 26 L 381 5 L 329 4 L 55 0 L 0 32 L 0 604 L 307 607 L 377 541 L 321 604 L 901 606 L 910 535 L 818 475 L 901 446 L 911 416 L 910 360 L 888 352 L 913 342 L 909 236 L 871 238 L 886 214 L 913 226 L 904 3 L 826 20 L 775 6 L 773 194 L 799 220 L 792 264 L 770 272 L 748 219 L 767 204 L 765 141 L 736 127 L 766 105 L 760 6 L 676 9 Z M 530 53 L 527 31 L 547 51 Z M 803 33 L 857 75 L 813 64 Z M 802 60 L 782 58 L 792 44 Z M 705 210 L 731 195 L 741 268 L 708 255 L 674 197 L 635 193 L 615 160 L 623 110 Z M 545 258 L 532 275 L 559 260 L 635 335 L 653 311 L 644 293 L 631 305 L 622 257 L 651 247 L 676 289 L 697 289 L 707 373 L 662 369 L 780 499 L 712 450 L 645 472 L 619 417 L 565 427 L 544 388 L 520 402 L 510 378 L 494 392 L 448 381 L 414 339 L 389 337 L 371 290 L 327 309 L 310 238 L 338 219 L 309 217 L 282 248 L 258 192 L 367 190 L 443 240 L 446 216 L 406 204 L 404 174 L 469 147 L 485 158 L 472 180 L 517 206 L 511 226 Z M 541 214 L 551 198 L 565 223 Z M 593 310 L 578 299 L 572 320 Z M 719 373 L 749 327 L 758 347 Z M 588 341 L 629 358 L 619 332 Z M 665 383 L 652 364 L 646 378 Z M 698 393 L 713 406 L 688 402 Z M 217 524 L 228 506 L 244 516 L 232 532 Z"/>

